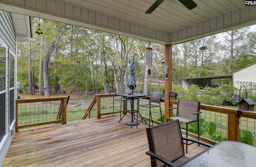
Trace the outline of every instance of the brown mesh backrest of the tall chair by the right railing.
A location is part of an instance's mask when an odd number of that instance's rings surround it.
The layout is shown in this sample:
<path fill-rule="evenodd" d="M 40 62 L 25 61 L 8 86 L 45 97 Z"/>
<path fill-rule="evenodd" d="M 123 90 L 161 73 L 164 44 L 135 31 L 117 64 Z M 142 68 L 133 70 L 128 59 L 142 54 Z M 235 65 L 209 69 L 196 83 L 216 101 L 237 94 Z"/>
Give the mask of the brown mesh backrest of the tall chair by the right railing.
<path fill-rule="evenodd" d="M 193 118 L 198 120 L 199 114 L 193 114 L 195 112 L 200 112 L 200 102 L 178 100 L 177 106 L 177 116 L 184 116 L 187 118 Z"/>

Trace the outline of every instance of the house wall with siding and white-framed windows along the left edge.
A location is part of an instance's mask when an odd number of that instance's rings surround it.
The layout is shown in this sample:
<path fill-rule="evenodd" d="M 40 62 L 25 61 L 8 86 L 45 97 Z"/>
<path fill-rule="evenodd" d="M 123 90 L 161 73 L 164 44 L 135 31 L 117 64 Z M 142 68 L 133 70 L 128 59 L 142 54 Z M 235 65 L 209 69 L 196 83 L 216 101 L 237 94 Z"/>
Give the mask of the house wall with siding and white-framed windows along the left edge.
<path fill-rule="evenodd" d="M 0 166 L 2 166 L 15 134 L 16 97 L 16 33 L 10 12 L 2 10 L 0 10 L 0 47 Z"/>

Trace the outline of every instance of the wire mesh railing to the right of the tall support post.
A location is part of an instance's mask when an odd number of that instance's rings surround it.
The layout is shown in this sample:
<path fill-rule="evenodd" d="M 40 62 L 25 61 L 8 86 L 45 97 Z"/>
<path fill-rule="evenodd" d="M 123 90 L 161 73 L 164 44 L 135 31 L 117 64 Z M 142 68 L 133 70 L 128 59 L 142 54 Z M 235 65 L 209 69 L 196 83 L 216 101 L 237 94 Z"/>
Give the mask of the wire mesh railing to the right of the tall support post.
<path fill-rule="evenodd" d="M 173 104 L 175 107 L 176 103 Z M 242 111 L 238 121 L 236 109 L 205 104 L 201 104 L 200 108 L 201 137 L 215 142 L 232 139 L 256 145 L 256 113 Z M 175 115 L 176 111 L 173 114 Z M 181 127 L 185 128 L 185 126 L 181 122 Z M 189 124 L 188 131 L 197 134 L 196 124 Z"/>

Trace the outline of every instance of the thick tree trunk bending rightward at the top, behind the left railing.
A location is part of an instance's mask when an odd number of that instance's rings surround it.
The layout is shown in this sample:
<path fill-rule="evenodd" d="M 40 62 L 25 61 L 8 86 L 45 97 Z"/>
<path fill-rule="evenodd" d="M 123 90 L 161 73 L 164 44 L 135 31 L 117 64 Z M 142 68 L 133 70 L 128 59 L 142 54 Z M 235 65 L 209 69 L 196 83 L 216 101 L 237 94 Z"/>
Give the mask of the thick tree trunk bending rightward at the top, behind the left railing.
<path fill-rule="evenodd" d="M 60 41 L 60 38 L 62 37 L 66 27 L 67 27 L 67 24 L 62 24 L 62 28 L 60 29 L 52 45 L 50 45 L 48 52 L 46 54 L 46 57 L 44 59 L 44 86 L 46 87 L 46 89 L 44 90 L 44 97 L 50 97 L 50 76 L 49 76 L 50 57 L 53 51 L 55 50 L 56 44 L 58 43 L 58 41 Z"/>

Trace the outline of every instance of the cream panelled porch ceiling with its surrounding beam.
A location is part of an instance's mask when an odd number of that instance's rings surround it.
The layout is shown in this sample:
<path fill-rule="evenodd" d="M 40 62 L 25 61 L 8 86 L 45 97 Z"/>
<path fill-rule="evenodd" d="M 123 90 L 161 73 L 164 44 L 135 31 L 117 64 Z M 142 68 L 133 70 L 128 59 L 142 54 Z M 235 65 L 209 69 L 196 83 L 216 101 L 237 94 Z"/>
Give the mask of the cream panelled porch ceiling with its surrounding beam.
<path fill-rule="evenodd" d="M 256 24 L 256 6 L 244 0 L 194 0 L 188 10 L 178 0 L 0 0 L 0 9 L 66 22 L 161 44 L 176 44 Z"/>

